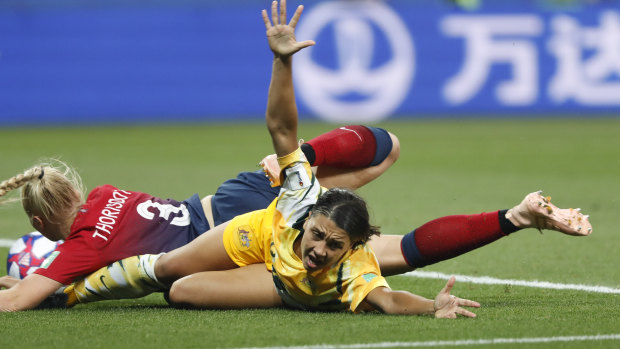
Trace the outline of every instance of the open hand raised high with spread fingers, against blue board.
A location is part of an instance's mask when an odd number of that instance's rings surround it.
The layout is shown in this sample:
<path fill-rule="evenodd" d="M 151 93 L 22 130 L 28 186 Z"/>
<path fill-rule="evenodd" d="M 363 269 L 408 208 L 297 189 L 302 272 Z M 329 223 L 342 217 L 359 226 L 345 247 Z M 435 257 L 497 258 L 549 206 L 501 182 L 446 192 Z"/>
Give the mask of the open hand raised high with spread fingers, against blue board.
<path fill-rule="evenodd" d="M 269 48 L 278 57 L 288 57 L 295 52 L 314 45 L 314 41 L 306 40 L 297 42 L 295 27 L 303 11 L 303 5 L 299 5 L 291 21 L 286 24 L 286 0 L 280 1 L 280 13 L 278 14 L 278 2 L 271 3 L 271 19 L 267 16 L 267 10 L 262 11 L 265 28 L 267 28 L 267 40 Z"/>

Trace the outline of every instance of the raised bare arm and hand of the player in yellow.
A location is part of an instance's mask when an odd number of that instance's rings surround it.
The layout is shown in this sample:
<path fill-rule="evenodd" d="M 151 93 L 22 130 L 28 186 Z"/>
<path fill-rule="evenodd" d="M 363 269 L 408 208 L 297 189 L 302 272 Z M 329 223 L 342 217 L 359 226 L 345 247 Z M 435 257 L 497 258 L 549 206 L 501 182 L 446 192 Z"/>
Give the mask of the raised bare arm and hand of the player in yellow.
<path fill-rule="evenodd" d="M 289 24 L 286 24 L 286 0 L 281 1 L 279 14 L 277 1 L 272 2 L 271 20 L 266 10 L 262 12 L 269 47 L 274 54 L 265 118 L 278 157 L 288 155 L 298 147 L 292 55 L 314 45 L 314 41 L 297 42 L 295 39 L 295 26 L 302 11 L 300 5 Z"/>

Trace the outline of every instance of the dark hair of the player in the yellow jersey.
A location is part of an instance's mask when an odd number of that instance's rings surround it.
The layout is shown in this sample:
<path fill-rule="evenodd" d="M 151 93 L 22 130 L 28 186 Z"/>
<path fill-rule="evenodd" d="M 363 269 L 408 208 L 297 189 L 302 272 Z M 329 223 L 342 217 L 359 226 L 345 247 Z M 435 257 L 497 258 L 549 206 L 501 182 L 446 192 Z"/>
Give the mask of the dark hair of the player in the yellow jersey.
<path fill-rule="evenodd" d="M 312 216 L 322 214 L 347 232 L 354 246 L 379 235 L 379 227 L 369 222 L 366 201 L 345 188 L 331 188 L 319 197 L 312 208 Z"/>

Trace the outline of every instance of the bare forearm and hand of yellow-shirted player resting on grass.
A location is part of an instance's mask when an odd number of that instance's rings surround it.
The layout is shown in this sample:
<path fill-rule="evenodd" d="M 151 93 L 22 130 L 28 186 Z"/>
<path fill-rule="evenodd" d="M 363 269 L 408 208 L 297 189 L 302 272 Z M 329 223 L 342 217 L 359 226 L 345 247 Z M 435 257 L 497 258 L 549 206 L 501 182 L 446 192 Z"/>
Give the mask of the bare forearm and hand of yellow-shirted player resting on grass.
<path fill-rule="evenodd" d="M 392 291 L 386 287 L 378 287 L 368 293 L 366 302 L 386 314 L 401 315 L 434 315 L 437 318 L 456 318 L 457 314 L 476 317 L 476 314 L 461 308 L 480 307 L 478 302 L 450 295 L 454 286 L 454 277 L 439 292 L 435 300 L 426 299 L 405 291 Z"/>

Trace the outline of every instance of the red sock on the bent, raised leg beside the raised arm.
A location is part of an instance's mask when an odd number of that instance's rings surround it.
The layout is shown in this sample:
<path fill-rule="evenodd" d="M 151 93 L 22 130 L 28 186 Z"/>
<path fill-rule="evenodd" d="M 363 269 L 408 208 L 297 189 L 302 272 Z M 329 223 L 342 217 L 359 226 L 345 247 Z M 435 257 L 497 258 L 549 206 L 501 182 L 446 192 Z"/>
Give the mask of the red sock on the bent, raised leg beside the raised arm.
<path fill-rule="evenodd" d="M 377 150 L 374 134 L 368 128 L 357 125 L 337 128 L 306 144 L 314 150 L 314 158 L 306 156 L 312 166 L 365 167 L 373 161 Z"/>

